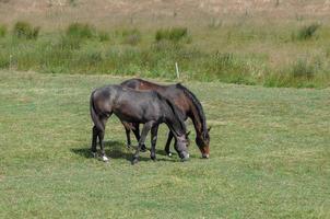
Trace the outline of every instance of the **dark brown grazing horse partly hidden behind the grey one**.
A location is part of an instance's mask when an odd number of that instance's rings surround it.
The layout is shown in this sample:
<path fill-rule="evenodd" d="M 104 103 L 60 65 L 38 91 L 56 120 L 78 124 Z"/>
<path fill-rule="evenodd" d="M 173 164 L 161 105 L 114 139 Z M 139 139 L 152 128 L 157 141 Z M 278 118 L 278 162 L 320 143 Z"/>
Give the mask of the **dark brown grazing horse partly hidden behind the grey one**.
<path fill-rule="evenodd" d="M 188 117 L 191 118 L 196 130 L 196 143 L 199 147 L 202 158 L 209 158 L 210 155 L 210 136 L 211 128 L 207 127 L 207 118 L 203 113 L 203 107 L 198 101 L 196 95 L 180 83 L 172 85 L 160 85 L 142 79 L 130 79 L 121 83 L 122 87 L 134 90 L 152 90 L 157 91 L 161 95 L 172 100 L 176 106 L 181 110 L 184 114 L 184 120 Z M 133 130 L 137 139 L 139 140 L 139 124 L 123 123 L 127 134 L 128 146 L 130 146 L 130 129 Z M 133 128 L 132 128 L 133 127 Z M 167 142 L 165 146 L 165 152 L 167 155 L 172 155 L 169 151 L 169 145 L 174 135 L 172 131 L 168 134 Z"/>

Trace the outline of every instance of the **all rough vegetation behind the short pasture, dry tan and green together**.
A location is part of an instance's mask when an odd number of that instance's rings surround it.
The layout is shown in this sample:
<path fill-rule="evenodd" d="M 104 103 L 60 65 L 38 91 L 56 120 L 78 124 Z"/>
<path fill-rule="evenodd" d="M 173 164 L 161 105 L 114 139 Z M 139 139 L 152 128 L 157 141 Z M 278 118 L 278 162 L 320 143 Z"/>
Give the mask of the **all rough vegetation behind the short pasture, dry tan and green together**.
<path fill-rule="evenodd" d="M 326 0 L 0 1 L 0 68 L 264 87 L 330 83 Z"/>

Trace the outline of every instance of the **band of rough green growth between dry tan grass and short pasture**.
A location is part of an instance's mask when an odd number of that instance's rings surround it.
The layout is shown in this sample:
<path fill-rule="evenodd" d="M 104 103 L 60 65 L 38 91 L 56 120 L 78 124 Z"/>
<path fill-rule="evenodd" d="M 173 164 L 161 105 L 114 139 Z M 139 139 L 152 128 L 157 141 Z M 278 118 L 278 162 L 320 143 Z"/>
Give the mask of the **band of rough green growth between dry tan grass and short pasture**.
<path fill-rule="evenodd" d="M 268 25 L 237 21 L 196 30 L 134 26 L 106 30 L 72 23 L 63 31 L 42 30 L 35 41 L 13 37 L 13 33 L 3 35 L 0 69 L 173 80 L 177 62 L 180 76 L 187 80 L 328 88 L 330 28 L 326 24 L 306 23 Z M 21 25 L 14 35 L 33 34 L 28 23 L 17 24 Z"/>

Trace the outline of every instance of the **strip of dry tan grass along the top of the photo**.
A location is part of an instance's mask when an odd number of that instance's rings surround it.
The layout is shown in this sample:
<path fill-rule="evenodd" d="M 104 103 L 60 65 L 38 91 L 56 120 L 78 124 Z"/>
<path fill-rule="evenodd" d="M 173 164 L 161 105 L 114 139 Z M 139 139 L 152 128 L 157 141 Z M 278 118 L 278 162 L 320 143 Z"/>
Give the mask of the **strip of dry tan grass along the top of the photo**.
<path fill-rule="evenodd" d="M 73 2 L 73 3 L 70 3 Z M 61 26 L 72 21 L 101 26 L 135 23 L 141 26 L 185 24 L 198 26 L 212 20 L 248 15 L 258 22 L 287 22 L 300 18 L 327 20 L 327 0 L 2 0 L 0 21 L 28 20 L 42 26 Z"/>

